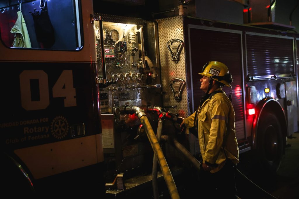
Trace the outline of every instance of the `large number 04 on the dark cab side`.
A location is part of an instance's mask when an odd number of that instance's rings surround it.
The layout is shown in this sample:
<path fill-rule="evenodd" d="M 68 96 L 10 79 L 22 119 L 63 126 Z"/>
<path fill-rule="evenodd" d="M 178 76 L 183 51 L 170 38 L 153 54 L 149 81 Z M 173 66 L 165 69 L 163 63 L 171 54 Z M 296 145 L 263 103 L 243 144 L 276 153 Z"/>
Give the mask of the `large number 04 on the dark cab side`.
<path fill-rule="evenodd" d="M 39 81 L 39 101 L 31 100 L 30 79 Z M 25 110 L 45 109 L 50 104 L 48 75 L 43 70 L 24 70 L 20 74 L 21 103 Z M 73 82 L 73 71 L 64 70 L 54 84 L 53 97 L 64 97 L 64 107 L 77 106 L 76 89 Z"/>

